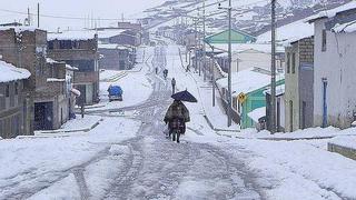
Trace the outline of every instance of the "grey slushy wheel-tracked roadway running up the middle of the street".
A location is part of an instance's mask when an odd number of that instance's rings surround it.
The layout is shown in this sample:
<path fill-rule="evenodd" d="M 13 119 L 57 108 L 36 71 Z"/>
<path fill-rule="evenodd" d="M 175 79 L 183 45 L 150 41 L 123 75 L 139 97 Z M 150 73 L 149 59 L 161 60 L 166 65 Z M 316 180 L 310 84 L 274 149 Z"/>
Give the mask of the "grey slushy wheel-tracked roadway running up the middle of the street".
<path fill-rule="evenodd" d="M 166 58 L 172 52 L 166 50 L 165 47 L 156 48 L 155 66 L 167 67 Z M 148 76 L 154 83 L 154 93 L 144 107 L 136 107 L 144 126 L 135 139 L 126 141 L 130 159 L 106 198 L 259 199 L 253 176 L 245 171 L 243 162 L 207 143 L 182 138 L 178 144 L 165 138 L 162 118 L 171 102 L 170 84 L 167 83 L 170 80 L 164 80 L 154 71 Z"/>

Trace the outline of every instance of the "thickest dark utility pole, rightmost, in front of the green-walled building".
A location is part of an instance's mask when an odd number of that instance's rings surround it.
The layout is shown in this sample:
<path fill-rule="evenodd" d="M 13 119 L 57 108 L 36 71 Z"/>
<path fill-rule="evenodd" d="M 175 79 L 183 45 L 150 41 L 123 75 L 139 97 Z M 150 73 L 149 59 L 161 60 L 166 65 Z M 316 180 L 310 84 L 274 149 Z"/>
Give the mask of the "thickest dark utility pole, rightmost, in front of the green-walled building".
<path fill-rule="evenodd" d="M 276 0 L 271 0 L 270 132 L 276 132 Z"/>

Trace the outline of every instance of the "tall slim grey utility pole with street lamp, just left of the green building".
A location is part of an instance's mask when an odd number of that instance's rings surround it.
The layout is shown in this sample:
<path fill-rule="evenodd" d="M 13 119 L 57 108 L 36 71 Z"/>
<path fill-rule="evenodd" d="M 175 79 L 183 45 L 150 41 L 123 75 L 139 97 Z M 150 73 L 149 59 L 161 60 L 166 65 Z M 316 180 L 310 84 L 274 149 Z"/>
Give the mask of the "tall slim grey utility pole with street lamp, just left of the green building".
<path fill-rule="evenodd" d="M 229 0 L 228 7 L 228 18 L 229 18 L 229 33 L 228 33 L 228 108 L 227 108 L 227 126 L 231 127 L 233 123 L 233 113 L 231 113 L 231 0 Z"/>

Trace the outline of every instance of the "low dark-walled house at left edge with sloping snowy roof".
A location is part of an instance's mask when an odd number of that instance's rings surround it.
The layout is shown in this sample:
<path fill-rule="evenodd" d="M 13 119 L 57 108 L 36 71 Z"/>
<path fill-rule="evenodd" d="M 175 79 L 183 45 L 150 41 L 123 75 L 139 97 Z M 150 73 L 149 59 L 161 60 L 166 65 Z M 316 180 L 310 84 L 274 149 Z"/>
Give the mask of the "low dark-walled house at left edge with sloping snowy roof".
<path fill-rule="evenodd" d="M 23 90 L 31 73 L 0 61 L 0 137 L 31 134 L 27 126 L 29 98 Z"/>

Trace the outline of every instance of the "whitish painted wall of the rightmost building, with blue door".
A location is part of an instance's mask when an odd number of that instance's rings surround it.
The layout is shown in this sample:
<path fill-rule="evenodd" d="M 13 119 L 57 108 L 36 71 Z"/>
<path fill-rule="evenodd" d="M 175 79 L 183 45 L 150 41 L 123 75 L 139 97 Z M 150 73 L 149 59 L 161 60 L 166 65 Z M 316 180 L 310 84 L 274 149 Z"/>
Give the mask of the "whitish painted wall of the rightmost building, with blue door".
<path fill-rule="evenodd" d="M 314 124 L 323 123 L 322 78 L 327 78 L 328 124 L 347 128 L 356 111 L 356 33 L 327 31 L 327 49 L 322 52 L 324 22 L 315 22 Z"/>

